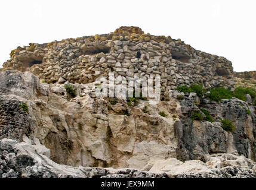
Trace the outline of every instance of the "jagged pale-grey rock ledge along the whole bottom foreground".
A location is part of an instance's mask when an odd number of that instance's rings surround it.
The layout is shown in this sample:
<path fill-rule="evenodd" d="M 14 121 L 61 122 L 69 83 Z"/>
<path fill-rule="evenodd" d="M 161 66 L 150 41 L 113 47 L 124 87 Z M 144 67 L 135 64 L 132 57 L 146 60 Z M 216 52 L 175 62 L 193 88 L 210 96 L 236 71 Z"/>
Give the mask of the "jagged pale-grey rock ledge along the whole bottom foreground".
<path fill-rule="evenodd" d="M 54 163 L 48 149 L 24 138 L 0 140 L 0 178 L 256 178 L 256 164 L 244 156 L 215 154 L 207 162 L 158 160 L 150 172 L 137 169 L 71 167 Z"/>

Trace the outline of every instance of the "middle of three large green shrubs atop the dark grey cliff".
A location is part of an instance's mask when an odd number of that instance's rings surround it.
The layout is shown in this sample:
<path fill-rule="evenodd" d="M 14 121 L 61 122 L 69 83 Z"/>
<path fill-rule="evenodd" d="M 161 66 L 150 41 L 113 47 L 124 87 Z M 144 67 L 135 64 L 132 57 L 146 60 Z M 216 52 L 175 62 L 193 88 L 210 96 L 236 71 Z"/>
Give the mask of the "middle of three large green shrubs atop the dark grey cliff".
<path fill-rule="evenodd" d="M 221 99 L 232 99 L 232 91 L 223 87 L 215 87 L 210 90 L 209 99 L 221 102 Z"/>

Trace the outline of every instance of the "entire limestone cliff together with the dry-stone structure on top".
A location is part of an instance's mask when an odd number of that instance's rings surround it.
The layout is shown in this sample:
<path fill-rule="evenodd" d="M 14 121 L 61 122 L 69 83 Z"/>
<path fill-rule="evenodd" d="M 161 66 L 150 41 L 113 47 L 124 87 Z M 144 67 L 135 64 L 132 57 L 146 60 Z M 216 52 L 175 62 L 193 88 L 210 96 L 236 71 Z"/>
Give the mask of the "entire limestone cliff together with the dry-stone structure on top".
<path fill-rule="evenodd" d="M 110 71 L 161 77 L 161 101 L 97 97 Z M 230 61 L 138 27 L 18 47 L 0 72 L 0 177 L 255 177 L 255 97 L 215 102 L 213 87 L 235 87 Z"/>

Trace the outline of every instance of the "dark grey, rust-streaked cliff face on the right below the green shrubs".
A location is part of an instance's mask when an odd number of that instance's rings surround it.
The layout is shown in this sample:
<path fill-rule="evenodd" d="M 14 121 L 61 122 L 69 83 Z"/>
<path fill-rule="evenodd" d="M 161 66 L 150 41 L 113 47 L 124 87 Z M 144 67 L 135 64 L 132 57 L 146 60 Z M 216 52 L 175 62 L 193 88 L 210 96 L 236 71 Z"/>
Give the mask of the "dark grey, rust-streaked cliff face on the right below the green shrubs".
<path fill-rule="evenodd" d="M 178 159 L 205 160 L 205 154 L 232 153 L 255 160 L 255 114 L 248 115 L 246 111 L 249 109 L 255 113 L 252 104 L 236 98 L 223 100 L 222 103 L 203 99 L 198 104 L 196 102 L 198 99 L 191 94 L 184 96 L 184 100 L 180 102 L 181 118 L 174 124 L 178 139 Z M 201 112 L 202 109 L 208 110 L 215 122 L 192 122 L 190 119 L 192 113 Z M 224 131 L 221 127 L 221 119 L 232 121 L 235 131 Z"/>

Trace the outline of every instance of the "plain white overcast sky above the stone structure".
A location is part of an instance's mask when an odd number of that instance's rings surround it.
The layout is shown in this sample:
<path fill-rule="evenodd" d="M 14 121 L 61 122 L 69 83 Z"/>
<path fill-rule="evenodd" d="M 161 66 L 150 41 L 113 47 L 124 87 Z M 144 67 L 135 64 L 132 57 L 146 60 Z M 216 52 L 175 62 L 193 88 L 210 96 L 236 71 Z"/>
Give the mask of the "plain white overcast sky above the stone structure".
<path fill-rule="evenodd" d="M 121 26 L 180 38 L 256 70 L 256 1 L 1 1 L 0 66 L 17 46 L 105 34 Z"/>

